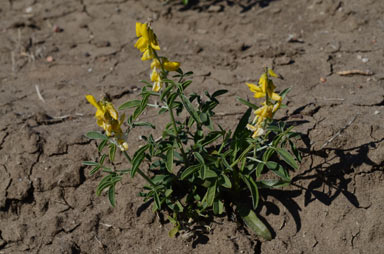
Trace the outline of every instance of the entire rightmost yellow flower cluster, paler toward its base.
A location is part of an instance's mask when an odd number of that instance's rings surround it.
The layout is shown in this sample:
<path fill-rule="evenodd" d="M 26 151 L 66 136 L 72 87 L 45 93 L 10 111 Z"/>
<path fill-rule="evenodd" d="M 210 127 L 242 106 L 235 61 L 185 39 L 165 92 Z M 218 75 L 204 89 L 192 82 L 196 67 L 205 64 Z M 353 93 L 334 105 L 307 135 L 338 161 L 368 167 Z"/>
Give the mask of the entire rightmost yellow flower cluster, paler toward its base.
<path fill-rule="evenodd" d="M 255 118 L 252 124 L 247 124 L 247 129 L 253 131 L 252 138 L 257 138 L 265 133 L 264 125 L 267 119 L 272 119 L 274 113 L 280 108 L 282 98 L 275 93 L 276 86 L 269 78 L 277 77 L 276 73 L 268 69 L 261 75 L 258 85 L 246 83 L 249 90 L 254 93 L 255 98 L 264 98 L 262 107 L 255 110 Z"/>

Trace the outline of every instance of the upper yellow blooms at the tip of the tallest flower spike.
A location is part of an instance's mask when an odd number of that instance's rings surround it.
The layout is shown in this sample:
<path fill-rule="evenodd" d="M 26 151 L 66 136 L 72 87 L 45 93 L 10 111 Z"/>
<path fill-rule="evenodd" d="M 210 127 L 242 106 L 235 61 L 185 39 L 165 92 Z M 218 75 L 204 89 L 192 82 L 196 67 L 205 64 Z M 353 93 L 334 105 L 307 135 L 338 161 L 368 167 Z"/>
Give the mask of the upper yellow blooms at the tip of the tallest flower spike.
<path fill-rule="evenodd" d="M 139 37 L 135 48 L 143 53 L 141 60 L 151 60 L 155 57 L 153 50 L 160 50 L 159 42 L 153 30 L 148 24 L 136 23 L 136 35 Z"/>

